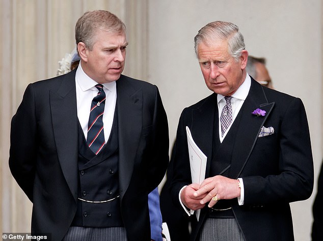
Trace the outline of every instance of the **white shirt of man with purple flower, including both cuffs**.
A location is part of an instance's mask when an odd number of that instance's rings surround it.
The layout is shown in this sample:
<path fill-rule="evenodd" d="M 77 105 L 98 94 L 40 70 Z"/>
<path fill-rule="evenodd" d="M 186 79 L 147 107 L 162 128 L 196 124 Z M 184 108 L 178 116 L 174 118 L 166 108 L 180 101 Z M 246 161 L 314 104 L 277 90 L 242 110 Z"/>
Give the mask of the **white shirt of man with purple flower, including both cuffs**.
<path fill-rule="evenodd" d="M 226 105 L 226 101 L 224 99 L 225 96 L 223 95 L 218 95 L 218 111 L 219 111 L 219 137 L 220 137 L 220 142 L 222 143 L 223 139 L 226 137 L 228 131 L 230 130 L 236 116 L 238 115 L 241 106 L 244 104 L 249 91 L 250 91 L 250 86 L 251 86 L 251 78 L 249 76 L 249 74 L 247 73 L 246 79 L 245 81 L 239 86 L 239 88 L 236 90 L 236 92 L 232 95 L 232 99 L 231 99 L 231 107 L 232 107 L 232 122 L 230 124 L 230 126 L 227 128 L 227 130 L 225 131 L 225 133 L 222 136 L 222 132 L 221 132 L 221 122 L 220 122 L 220 117 L 221 117 L 221 112 L 222 109 L 224 108 L 224 106 Z M 243 205 L 244 201 L 245 201 L 245 190 L 244 190 L 244 182 L 242 178 L 238 178 L 239 182 L 240 182 L 240 197 L 238 197 L 238 203 L 239 205 Z M 182 207 L 184 208 L 185 212 L 187 215 L 191 216 L 194 211 L 193 210 L 187 210 L 187 208 L 184 206 L 184 204 L 182 203 L 181 199 L 180 199 L 180 194 L 182 192 L 182 190 L 185 188 L 186 186 L 184 186 L 178 194 L 179 197 L 179 201 L 182 205 Z"/>

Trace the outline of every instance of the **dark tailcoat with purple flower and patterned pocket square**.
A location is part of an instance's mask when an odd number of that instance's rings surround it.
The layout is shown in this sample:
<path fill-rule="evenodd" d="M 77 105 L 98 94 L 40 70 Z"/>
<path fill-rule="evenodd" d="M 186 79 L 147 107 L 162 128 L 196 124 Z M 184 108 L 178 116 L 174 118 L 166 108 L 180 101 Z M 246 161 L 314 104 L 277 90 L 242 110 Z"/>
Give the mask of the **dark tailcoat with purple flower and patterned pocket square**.
<path fill-rule="evenodd" d="M 265 116 L 253 115 L 256 108 L 265 110 Z M 303 103 L 252 79 L 239 114 L 229 177 L 243 178 L 245 202 L 241 206 L 237 200 L 232 202 L 234 216 L 247 241 L 293 240 L 289 202 L 307 199 L 313 189 L 313 160 Z M 218 115 L 217 95 L 212 94 L 185 108 L 180 116 L 172 182 L 172 196 L 178 205 L 179 190 L 192 183 L 185 127 L 190 128 L 194 141 L 208 157 L 209 177 Z M 273 127 L 274 134 L 258 138 L 262 126 Z M 193 240 L 205 216 L 206 208 L 201 211 Z"/>

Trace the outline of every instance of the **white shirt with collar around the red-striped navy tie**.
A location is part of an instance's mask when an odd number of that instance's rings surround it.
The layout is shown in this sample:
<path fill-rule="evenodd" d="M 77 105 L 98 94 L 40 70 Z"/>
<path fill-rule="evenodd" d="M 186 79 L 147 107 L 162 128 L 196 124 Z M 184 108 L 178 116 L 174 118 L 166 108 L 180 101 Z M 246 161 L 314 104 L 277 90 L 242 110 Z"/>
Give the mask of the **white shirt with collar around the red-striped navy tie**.
<path fill-rule="evenodd" d="M 85 139 L 88 136 L 88 124 L 91 110 L 91 103 L 95 96 L 97 96 L 98 89 L 95 87 L 97 82 L 91 79 L 78 65 L 75 75 L 76 84 L 76 103 L 77 103 L 77 117 L 79 124 L 82 127 Z M 113 118 L 117 102 L 117 87 L 116 81 L 104 83 L 103 91 L 105 93 L 105 105 L 103 113 L 103 131 L 105 143 L 109 140 Z"/>

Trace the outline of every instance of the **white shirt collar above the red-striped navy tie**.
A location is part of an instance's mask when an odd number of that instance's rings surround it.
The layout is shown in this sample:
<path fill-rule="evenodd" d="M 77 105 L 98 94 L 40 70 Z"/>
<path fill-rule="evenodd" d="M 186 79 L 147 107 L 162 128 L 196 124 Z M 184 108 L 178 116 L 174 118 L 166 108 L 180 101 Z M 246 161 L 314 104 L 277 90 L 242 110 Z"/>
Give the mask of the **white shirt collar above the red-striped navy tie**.
<path fill-rule="evenodd" d="M 82 89 L 83 92 L 88 91 L 89 89 L 93 88 L 97 82 L 91 79 L 82 69 L 82 66 L 78 65 L 75 75 L 75 81 L 79 85 L 79 87 Z M 116 81 L 109 82 L 109 83 L 103 83 L 102 84 L 106 89 L 109 91 L 114 91 L 116 89 Z"/>

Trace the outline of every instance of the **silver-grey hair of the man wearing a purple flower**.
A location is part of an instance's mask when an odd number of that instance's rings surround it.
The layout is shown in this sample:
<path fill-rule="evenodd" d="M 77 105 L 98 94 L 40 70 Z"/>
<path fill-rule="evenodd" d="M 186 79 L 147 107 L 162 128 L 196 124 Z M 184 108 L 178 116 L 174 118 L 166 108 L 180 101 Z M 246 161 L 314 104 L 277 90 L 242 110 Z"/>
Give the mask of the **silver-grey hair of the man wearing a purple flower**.
<path fill-rule="evenodd" d="M 241 52 L 246 48 L 244 36 L 239 32 L 239 27 L 231 22 L 215 21 L 202 27 L 194 38 L 194 49 L 198 55 L 200 43 L 209 44 L 214 40 L 227 40 L 229 54 L 238 61 Z"/>

